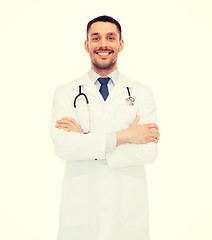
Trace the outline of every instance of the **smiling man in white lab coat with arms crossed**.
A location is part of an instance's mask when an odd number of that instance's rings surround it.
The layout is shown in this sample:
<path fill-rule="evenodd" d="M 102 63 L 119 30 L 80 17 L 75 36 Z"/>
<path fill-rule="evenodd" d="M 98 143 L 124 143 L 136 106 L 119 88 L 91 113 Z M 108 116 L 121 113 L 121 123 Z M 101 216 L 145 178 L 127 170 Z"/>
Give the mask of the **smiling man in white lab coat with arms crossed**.
<path fill-rule="evenodd" d="M 117 69 L 123 48 L 115 19 L 91 20 L 90 71 L 55 91 L 50 133 L 66 161 L 58 240 L 149 239 L 144 164 L 160 134 L 151 90 Z"/>

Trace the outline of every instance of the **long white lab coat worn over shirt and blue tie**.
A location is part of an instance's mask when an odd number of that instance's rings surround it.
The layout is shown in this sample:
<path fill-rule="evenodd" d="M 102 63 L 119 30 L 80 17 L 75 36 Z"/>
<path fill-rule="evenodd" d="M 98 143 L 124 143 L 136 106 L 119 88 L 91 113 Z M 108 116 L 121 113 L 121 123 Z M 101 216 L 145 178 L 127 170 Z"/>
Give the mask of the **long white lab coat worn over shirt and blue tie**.
<path fill-rule="evenodd" d="M 89 134 L 55 128 L 61 117 L 79 121 L 73 108 L 79 85 L 89 99 Z M 136 100 L 134 106 L 125 101 L 126 87 Z M 84 99 L 77 106 L 78 111 L 87 111 Z M 66 161 L 58 240 L 149 239 L 144 164 L 156 159 L 157 145 L 122 144 L 109 152 L 105 149 L 106 134 L 127 128 L 136 115 L 140 115 L 140 123 L 156 122 L 152 92 L 122 74 L 106 102 L 88 74 L 56 89 L 50 134 L 56 155 Z M 89 121 L 87 113 L 85 119 Z"/>

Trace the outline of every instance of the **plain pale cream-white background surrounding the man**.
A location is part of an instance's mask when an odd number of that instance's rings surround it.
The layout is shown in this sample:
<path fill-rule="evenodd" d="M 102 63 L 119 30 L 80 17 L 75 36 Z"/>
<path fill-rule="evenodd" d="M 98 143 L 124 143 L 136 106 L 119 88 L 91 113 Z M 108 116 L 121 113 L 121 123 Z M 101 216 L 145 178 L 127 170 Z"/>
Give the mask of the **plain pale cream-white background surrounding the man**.
<path fill-rule="evenodd" d="M 0 239 L 56 240 L 64 162 L 48 132 L 52 96 L 89 70 L 85 29 L 102 14 L 123 28 L 119 70 L 157 102 L 151 240 L 212 239 L 211 13 L 210 0 L 1 0 Z"/>

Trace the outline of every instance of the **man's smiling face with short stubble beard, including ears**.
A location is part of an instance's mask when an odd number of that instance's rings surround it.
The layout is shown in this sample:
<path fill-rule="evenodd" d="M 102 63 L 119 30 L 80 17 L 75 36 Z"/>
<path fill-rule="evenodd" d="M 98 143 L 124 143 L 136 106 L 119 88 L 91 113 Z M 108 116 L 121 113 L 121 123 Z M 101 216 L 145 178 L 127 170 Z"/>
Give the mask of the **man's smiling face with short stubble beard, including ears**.
<path fill-rule="evenodd" d="M 119 52 L 123 50 L 124 42 L 120 39 L 115 24 L 110 22 L 95 22 L 88 32 L 85 49 L 90 55 L 91 67 L 97 73 L 112 72 L 117 68 Z"/>

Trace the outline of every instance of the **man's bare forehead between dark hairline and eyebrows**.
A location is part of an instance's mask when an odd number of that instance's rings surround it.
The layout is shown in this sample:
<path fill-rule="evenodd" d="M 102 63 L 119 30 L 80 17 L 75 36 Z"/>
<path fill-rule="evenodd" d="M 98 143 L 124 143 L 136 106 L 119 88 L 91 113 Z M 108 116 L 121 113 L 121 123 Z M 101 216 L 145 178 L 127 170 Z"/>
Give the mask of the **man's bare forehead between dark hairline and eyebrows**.
<path fill-rule="evenodd" d="M 119 34 L 118 28 L 115 24 L 110 22 L 95 22 L 91 25 L 88 35 L 91 35 L 93 33 L 99 33 L 101 35 L 105 35 L 108 33 L 115 33 Z"/>

